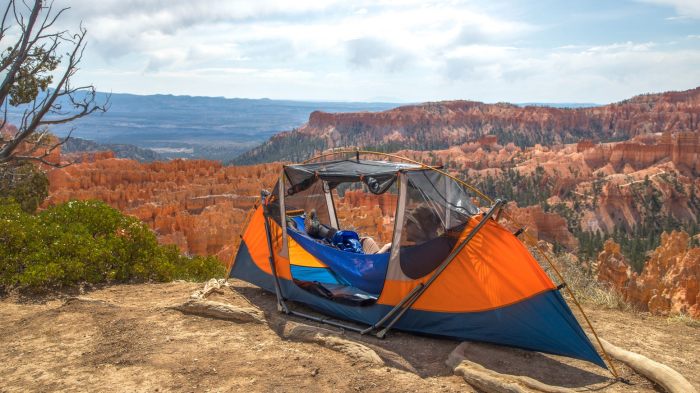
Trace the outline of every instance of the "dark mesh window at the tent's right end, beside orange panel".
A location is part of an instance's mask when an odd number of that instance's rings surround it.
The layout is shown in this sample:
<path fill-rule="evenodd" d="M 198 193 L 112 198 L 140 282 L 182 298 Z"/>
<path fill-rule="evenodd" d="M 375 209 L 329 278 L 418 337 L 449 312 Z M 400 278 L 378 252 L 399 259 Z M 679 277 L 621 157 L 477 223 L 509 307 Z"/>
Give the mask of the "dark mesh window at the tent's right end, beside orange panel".
<path fill-rule="evenodd" d="M 471 216 L 474 196 L 455 180 L 431 170 L 406 172 L 406 206 L 400 263 L 413 279 L 432 272 L 450 254 Z"/>

